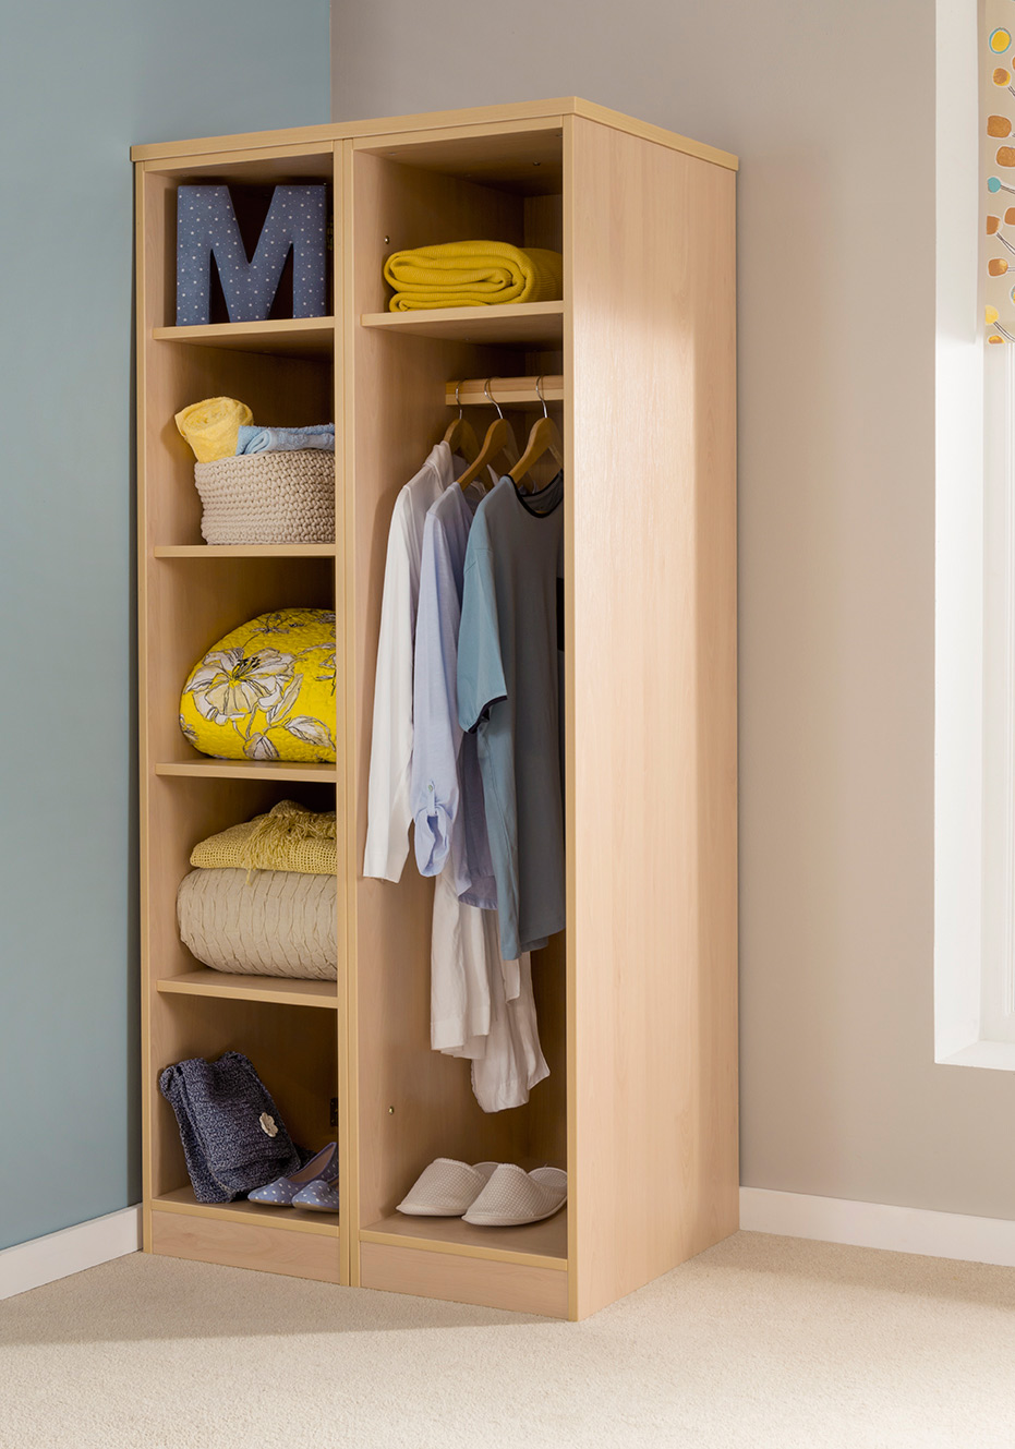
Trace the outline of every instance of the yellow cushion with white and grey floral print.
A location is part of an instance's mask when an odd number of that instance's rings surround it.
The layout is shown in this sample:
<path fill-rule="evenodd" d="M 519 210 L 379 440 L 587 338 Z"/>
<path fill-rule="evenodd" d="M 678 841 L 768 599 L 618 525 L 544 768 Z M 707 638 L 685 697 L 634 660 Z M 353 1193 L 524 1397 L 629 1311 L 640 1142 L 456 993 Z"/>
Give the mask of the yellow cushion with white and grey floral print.
<path fill-rule="evenodd" d="M 220 639 L 191 669 L 180 727 L 217 759 L 334 762 L 334 614 L 279 609 Z"/>

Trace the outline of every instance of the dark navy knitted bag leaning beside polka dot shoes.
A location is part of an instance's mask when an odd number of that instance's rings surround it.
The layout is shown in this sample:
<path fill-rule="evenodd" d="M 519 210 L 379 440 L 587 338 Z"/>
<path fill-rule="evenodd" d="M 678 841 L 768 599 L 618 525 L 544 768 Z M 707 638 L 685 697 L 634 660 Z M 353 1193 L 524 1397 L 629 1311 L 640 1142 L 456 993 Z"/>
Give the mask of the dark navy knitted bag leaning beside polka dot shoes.
<path fill-rule="evenodd" d="M 301 1165 L 271 1093 L 242 1052 L 194 1056 L 159 1074 L 198 1203 L 232 1203 Z"/>

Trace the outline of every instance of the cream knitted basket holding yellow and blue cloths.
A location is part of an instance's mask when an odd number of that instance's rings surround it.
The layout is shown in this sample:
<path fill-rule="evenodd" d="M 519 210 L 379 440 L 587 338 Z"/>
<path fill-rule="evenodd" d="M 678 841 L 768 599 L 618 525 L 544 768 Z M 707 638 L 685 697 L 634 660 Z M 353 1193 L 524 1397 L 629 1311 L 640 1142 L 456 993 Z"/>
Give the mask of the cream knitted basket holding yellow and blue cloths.
<path fill-rule="evenodd" d="M 194 464 L 206 543 L 333 543 L 334 454 L 323 448 Z"/>

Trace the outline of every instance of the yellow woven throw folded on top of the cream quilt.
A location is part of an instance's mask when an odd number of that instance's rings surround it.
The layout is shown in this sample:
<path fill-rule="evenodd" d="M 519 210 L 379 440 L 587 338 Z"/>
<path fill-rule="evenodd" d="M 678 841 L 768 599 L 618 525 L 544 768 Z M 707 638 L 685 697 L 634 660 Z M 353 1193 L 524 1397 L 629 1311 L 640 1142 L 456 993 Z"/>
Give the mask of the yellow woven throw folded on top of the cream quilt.
<path fill-rule="evenodd" d="M 281 800 L 265 816 L 209 836 L 191 851 L 203 869 L 301 871 L 334 875 L 334 810 L 304 810 Z"/>

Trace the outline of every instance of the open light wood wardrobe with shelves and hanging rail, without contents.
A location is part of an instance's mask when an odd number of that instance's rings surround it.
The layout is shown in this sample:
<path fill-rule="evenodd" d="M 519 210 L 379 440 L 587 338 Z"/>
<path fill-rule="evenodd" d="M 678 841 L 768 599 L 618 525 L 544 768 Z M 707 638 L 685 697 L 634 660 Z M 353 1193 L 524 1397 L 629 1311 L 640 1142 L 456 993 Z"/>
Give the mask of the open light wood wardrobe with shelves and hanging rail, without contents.
<path fill-rule="evenodd" d="M 737 1227 L 736 158 L 582 100 L 138 146 L 145 1248 L 581 1319 Z M 181 184 L 324 181 L 332 314 L 177 327 Z M 562 301 L 387 310 L 384 258 L 563 251 Z M 433 881 L 362 875 L 388 523 L 482 383 L 565 442 L 568 929 L 533 955 L 550 1077 L 484 1114 L 430 1051 Z M 174 414 L 230 396 L 336 425 L 333 545 L 201 542 Z M 482 429 L 494 416 L 469 410 Z M 198 755 L 194 662 L 269 609 L 334 607 L 337 764 Z M 195 842 L 292 798 L 339 820 L 337 981 L 223 975 L 181 943 Z M 340 1213 L 198 1204 L 158 1072 L 245 1052 L 292 1137 L 337 1136 Z M 400 1217 L 437 1156 L 566 1166 L 515 1229 Z"/>

